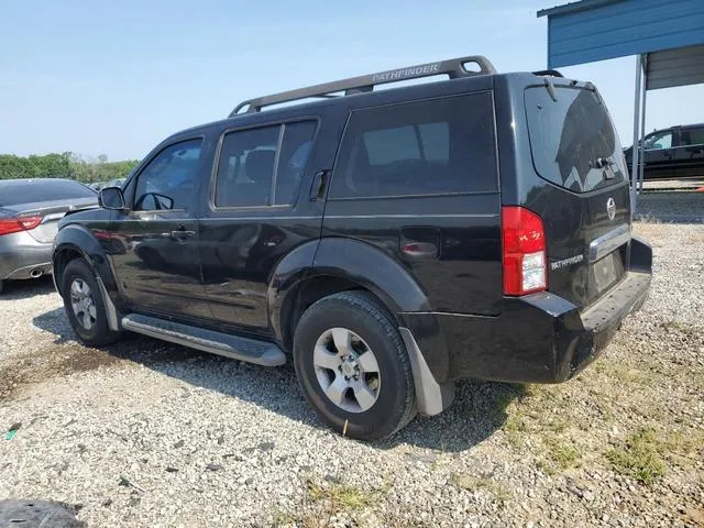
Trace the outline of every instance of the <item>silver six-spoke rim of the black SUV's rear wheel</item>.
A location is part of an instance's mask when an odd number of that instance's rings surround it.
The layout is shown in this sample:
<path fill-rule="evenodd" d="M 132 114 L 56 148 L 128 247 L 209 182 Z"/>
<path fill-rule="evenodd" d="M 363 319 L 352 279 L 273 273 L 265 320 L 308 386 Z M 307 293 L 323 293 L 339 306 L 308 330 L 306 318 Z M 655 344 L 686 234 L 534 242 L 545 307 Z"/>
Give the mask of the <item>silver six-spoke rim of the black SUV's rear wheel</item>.
<path fill-rule="evenodd" d="M 341 409 L 364 413 L 376 403 L 382 387 L 378 363 L 352 330 L 326 330 L 316 342 L 312 363 L 323 393 Z"/>

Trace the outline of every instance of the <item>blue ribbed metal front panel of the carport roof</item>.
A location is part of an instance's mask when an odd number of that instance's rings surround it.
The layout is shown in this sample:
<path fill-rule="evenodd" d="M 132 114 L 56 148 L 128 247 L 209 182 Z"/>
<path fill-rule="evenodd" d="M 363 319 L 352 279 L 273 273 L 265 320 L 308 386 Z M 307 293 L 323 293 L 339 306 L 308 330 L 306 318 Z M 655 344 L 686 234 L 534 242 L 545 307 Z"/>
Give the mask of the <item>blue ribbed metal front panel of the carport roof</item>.
<path fill-rule="evenodd" d="M 549 68 L 704 44 L 704 0 L 581 0 L 538 15 Z"/>

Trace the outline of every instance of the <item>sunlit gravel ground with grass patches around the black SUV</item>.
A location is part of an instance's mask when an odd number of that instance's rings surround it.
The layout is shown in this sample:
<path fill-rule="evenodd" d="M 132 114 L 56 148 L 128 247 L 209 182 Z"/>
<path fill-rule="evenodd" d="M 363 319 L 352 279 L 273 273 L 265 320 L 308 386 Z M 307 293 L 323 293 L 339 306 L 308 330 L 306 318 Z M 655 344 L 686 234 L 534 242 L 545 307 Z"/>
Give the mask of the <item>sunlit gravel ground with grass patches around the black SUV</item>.
<path fill-rule="evenodd" d="M 290 367 L 74 340 L 51 282 L 0 297 L 0 498 L 88 526 L 704 526 L 704 226 L 641 223 L 644 309 L 570 383 L 462 383 L 365 444 Z"/>

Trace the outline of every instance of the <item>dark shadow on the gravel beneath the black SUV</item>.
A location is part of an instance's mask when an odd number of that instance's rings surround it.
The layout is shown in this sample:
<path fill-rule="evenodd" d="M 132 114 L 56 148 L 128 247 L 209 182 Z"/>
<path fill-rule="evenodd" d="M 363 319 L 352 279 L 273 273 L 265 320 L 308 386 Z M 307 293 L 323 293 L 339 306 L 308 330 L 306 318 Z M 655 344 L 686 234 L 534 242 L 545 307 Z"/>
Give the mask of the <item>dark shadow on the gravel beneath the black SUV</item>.
<path fill-rule="evenodd" d="M 68 322 L 61 319 L 65 319 L 64 310 L 57 308 L 36 316 L 33 323 L 54 333 L 56 342 L 75 341 Z M 216 391 L 327 430 L 300 393 L 292 362 L 266 369 L 136 334 L 125 334 L 123 340 L 103 350 L 191 386 Z M 454 404 L 446 413 L 419 416 L 394 437 L 374 446 L 392 449 L 410 444 L 444 452 L 468 450 L 504 425 L 506 407 L 525 392 L 522 385 L 460 382 Z"/>

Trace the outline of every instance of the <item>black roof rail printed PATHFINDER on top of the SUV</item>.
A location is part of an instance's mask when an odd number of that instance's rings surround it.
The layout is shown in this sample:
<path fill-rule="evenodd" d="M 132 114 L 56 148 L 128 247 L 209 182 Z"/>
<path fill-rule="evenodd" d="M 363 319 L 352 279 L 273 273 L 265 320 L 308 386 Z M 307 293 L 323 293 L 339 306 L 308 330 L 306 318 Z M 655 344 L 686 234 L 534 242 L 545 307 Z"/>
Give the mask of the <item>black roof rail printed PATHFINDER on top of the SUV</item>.
<path fill-rule="evenodd" d="M 468 69 L 466 65 L 475 64 L 480 67 L 479 72 Z M 344 91 L 345 96 L 352 94 L 363 94 L 372 91 L 375 86 L 388 82 L 398 82 L 408 79 L 419 79 L 422 77 L 432 77 L 436 75 L 447 75 L 451 79 L 458 77 L 466 77 L 471 75 L 490 75 L 495 74 L 496 69 L 488 58 L 482 55 L 471 55 L 468 57 L 450 58 L 438 63 L 419 64 L 416 66 L 407 66 L 405 68 L 389 69 L 380 72 L 378 74 L 362 75 L 349 79 L 333 80 L 332 82 L 323 82 L 322 85 L 309 86 L 307 88 L 298 88 L 296 90 L 283 91 L 271 96 L 248 99 L 238 105 L 230 117 L 240 113 L 245 107 L 248 112 L 258 112 L 264 107 L 278 105 L 280 102 L 297 101 L 312 97 L 331 98 L 337 97 L 333 94 Z"/>

